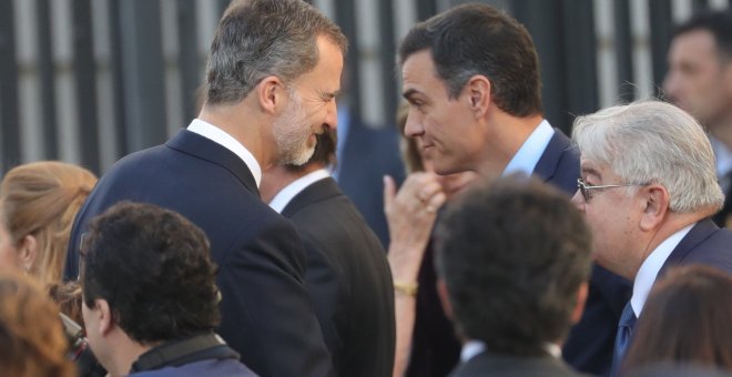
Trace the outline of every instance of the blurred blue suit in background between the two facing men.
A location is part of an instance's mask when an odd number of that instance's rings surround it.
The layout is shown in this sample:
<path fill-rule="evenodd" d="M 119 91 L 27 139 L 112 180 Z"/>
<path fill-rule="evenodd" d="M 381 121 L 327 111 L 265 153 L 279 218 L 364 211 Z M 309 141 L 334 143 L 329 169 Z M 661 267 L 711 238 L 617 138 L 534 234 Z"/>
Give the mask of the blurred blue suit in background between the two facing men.
<path fill-rule="evenodd" d="M 404 181 L 399 134 L 393 128 L 375 130 L 353 120 L 338 165 L 338 186 L 387 247 L 389 227 L 384 214 L 383 176 L 390 175 L 397 185 Z"/>

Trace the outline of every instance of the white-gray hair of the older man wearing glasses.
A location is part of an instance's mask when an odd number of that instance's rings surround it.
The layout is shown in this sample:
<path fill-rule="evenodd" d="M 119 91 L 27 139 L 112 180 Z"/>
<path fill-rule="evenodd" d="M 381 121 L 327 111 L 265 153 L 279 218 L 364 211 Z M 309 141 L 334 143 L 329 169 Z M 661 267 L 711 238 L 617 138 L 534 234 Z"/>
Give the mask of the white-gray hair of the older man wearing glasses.
<path fill-rule="evenodd" d="M 709 139 L 691 115 L 672 104 L 642 101 L 579 116 L 572 140 L 582 157 L 610 166 L 626 183 L 664 186 L 672 212 L 722 207 Z"/>

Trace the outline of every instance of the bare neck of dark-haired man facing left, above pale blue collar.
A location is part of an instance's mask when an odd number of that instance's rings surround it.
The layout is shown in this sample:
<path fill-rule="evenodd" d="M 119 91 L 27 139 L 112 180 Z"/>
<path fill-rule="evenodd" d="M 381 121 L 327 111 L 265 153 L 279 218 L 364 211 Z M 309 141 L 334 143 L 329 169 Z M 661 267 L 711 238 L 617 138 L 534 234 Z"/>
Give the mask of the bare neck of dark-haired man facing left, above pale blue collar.
<path fill-rule="evenodd" d="M 487 147 L 484 149 L 481 164 L 477 172 L 481 176 L 498 176 L 526 143 L 543 116 L 541 114 L 516 118 L 500 109 L 489 112 L 486 133 Z"/>

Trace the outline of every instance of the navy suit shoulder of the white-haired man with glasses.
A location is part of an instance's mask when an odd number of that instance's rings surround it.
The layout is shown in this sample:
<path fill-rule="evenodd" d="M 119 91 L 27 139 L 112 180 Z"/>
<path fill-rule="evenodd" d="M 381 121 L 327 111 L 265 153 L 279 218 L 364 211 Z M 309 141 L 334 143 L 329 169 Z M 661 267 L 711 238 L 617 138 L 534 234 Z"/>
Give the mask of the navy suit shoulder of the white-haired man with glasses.
<path fill-rule="evenodd" d="M 732 274 L 732 231 L 719 228 L 711 220 L 704 218 L 681 238 L 671 252 L 658 276 L 670 267 L 687 264 L 705 264 Z"/>

